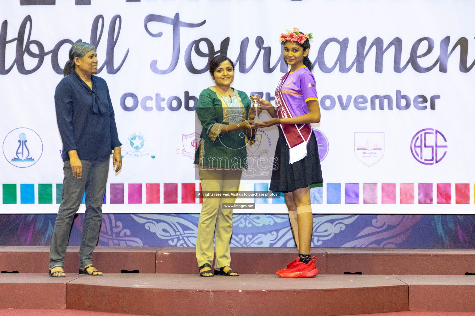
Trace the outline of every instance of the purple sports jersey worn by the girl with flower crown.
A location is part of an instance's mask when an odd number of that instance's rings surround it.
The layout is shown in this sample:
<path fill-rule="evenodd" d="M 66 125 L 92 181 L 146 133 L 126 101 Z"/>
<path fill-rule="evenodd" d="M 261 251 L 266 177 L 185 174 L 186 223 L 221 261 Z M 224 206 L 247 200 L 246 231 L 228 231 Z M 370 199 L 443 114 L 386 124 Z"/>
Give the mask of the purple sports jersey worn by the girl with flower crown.
<path fill-rule="evenodd" d="M 300 67 L 295 72 L 290 72 L 280 91 L 292 117 L 308 113 L 308 107 L 305 103 L 308 100 L 318 101 L 314 75 L 305 66 Z"/>

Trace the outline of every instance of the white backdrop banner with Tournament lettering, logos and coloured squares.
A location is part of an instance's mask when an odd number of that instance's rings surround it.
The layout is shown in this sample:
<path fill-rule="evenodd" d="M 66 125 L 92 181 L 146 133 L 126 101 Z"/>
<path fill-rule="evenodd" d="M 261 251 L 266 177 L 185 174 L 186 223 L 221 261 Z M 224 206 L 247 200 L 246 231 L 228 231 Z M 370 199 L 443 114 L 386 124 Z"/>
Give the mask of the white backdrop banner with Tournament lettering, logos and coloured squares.
<path fill-rule="evenodd" d="M 293 27 L 314 33 L 325 181 L 311 188 L 314 212 L 473 213 L 474 11 L 464 0 L 2 1 L 0 213 L 57 212 L 53 96 L 78 40 L 97 48 L 123 143 L 104 212 L 198 213 L 194 109 L 213 85 L 207 63 L 227 54 L 233 87 L 272 101 L 288 71 L 278 36 Z M 258 130 L 255 166 L 274 156 L 277 136 Z M 243 177 L 240 190 L 268 183 Z M 236 213 L 286 212 L 282 199 L 238 202 L 256 204 Z"/>

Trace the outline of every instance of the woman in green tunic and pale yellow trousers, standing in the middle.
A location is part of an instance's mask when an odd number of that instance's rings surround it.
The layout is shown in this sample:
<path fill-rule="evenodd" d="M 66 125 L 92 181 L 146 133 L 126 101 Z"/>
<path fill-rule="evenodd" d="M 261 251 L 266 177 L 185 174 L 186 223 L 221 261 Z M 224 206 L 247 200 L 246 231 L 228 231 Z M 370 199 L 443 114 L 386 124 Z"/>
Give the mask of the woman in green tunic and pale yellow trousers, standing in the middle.
<path fill-rule="evenodd" d="M 216 245 L 215 274 L 238 276 L 229 264 L 229 243 L 233 226 L 233 210 L 221 208 L 234 203 L 232 193 L 239 190 L 243 168 L 247 169 L 247 139 L 254 137 L 255 117 L 251 101 L 243 91 L 231 88 L 234 63 L 225 55 L 214 57 L 209 72 L 216 82 L 199 95 L 196 113 L 203 127 L 195 153 L 203 192 L 226 192 L 230 196 L 203 197 L 196 238 L 196 258 L 199 275 L 212 277 L 213 239 Z M 213 238 L 214 237 L 214 238 Z"/>

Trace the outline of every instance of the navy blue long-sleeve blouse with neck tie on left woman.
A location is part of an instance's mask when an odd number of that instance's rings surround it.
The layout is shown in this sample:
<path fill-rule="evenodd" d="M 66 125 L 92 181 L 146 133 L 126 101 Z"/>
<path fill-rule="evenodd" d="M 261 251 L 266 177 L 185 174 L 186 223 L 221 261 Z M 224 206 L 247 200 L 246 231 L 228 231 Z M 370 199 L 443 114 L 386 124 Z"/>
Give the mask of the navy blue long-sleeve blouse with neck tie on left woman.
<path fill-rule="evenodd" d="M 93 159 L 121 146 L 115 126 L 114 108 L 105 80 L 91 76 L 92 89 L 73 71 L 57 85 L 56 118 L 63 141 L 63 161 L 76 150 L 79 159 Z"/>

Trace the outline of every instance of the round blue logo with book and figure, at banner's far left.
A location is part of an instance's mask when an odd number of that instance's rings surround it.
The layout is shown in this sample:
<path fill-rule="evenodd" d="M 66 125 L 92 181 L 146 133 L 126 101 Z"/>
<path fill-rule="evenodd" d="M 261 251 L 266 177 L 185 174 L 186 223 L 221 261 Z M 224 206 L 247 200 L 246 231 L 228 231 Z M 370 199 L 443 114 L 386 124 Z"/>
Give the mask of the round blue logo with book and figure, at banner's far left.
<path fill-rule="evenodd" d="M 3 140 L 3 155 L 15 167 L 31 167 L 38 162 L 42 154 L 41 137 L 31 128 L 15 128 Z"/>

